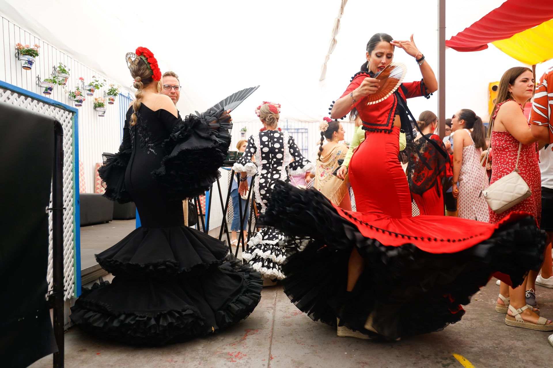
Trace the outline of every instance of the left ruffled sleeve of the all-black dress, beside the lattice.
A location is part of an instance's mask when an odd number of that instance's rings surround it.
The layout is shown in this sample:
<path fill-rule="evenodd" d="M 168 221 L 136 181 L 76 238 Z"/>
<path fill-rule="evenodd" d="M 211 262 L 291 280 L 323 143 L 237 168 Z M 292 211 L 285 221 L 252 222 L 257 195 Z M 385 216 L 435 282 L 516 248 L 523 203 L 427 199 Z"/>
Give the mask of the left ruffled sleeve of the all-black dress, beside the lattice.
<path fill-rule="evenodd" d="M 132 202 L 132 198 L 125 188 L 125 171 L 131 159 L 132 143 L 129 134 L 129 122 L 123 125 L 123 141 L 119 152 L 104 153 L 103 166 L 98 168 L 98 175 L 102 179 L 102 186 L 106 189 L 103 194 L 106 198 L 119 203 Z"/>

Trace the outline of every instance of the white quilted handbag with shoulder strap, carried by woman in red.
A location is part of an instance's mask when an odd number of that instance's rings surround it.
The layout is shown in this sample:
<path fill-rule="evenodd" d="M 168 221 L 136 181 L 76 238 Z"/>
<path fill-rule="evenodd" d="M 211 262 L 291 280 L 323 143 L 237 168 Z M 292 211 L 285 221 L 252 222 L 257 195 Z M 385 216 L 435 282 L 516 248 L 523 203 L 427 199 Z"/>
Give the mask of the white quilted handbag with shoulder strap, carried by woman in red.
<path fill-rule="evenodd" d="M 492 126 L 490 127 L 493 132 L 493 120 Z M 492 137 L 490 136 L 489 146 L 492 147 Z M 488 186 L 487 189 L 482 189 L 480 195 L 483 195 L 488 202 L 489 207 L 496 213 L 500 214 L 501 212 L 507 211 L 510 207 L 517 205 L 519 202 L 525 200 L 532 195 L 530 187 L 524 179 L 520 176 L 518 170 L 518 160 L 520 157 L 520 147 L 521 143 L 519 142 L 519 152 L 517 154 L 517 164 L 515 164 L 515 169 L 512 173 L 505 175 L 503 178 L 498 179 L 493 184 Z M 486 166 L 488 164 L 489 151 L 492 148 L 488 149 L 486 153 Z M 484 160 L 482 160 L 483 162 Z M 484 171 L 484 184 L 488 179 L 486 171 Z M 482 185 L 484 188 L 484 185 Z"/>

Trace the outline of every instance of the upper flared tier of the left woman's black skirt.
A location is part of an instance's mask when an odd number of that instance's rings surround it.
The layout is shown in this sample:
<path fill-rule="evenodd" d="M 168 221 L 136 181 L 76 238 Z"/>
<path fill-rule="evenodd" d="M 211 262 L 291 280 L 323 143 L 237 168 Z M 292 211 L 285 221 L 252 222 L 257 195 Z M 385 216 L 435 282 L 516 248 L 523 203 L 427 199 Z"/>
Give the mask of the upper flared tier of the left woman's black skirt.
<path fill-rule="evenodd" d="M 115 276 L 170 280 L 202 274 L 227 257 L 224 243 L 187 226 L 139 227 L 96 254 L 96 261 Z"/>

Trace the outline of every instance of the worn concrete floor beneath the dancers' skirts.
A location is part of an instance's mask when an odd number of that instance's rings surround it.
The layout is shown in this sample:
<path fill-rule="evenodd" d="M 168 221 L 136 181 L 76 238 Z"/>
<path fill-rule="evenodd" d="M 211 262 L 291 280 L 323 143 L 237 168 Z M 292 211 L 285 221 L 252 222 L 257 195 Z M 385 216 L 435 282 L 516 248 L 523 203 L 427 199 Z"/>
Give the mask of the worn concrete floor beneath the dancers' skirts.
<path fill-rule="evenodd" d="M 338 338 L 290 303 L 280 286 L 266 287 L 244 321 L 206 338 L 161 348 L 133 347 L 65 334 L 65 366 L 72 367 L 552 367 L 549 333 L 508 327 L 494 311 L 499 287 L 489 282 L 465 308 L 461 322 L 441 332 L 394 343 Z M 553 289 L 538 286 L 541 315 L 553 317 Z M 453 354 L 458 354 L 463 365 Z M 33 368 L 51 367 L 51 355 Z M 472 365 L 469 365 L 472 364 Z"/>

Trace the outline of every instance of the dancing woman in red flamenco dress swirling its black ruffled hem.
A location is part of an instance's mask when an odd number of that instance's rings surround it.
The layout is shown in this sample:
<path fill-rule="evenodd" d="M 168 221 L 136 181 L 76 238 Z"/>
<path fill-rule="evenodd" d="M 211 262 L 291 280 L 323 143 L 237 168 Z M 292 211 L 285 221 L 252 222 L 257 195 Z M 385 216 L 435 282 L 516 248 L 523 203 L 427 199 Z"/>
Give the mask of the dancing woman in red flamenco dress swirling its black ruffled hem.
<path fill-rule="evenodd" d="M 394 46 L 418 63 L 422 81 L 403 83 L 388 98 L 367 105 L 379 88 L 374 73 L 393 60 Z M 409 185 L 398 161 L 406 98 L 425 96 L 437 82 L 410 41 L 375 34 L 367 62 L 331 116 L 357 108 L 366 138 L 349 164 L 357 212 L 333 206 L 314 190 L 278 182 L 264 223 L 302 247 L 283 265 L 284 292 L 315 321 L 338 324 L 338 336 L 397 340 L 460 321 L 461 305 L 492 275 L 519 285 L 537 270 L 545 234 L 527 214 L 497 224 L 448 216 L 411 216 Z"/>

